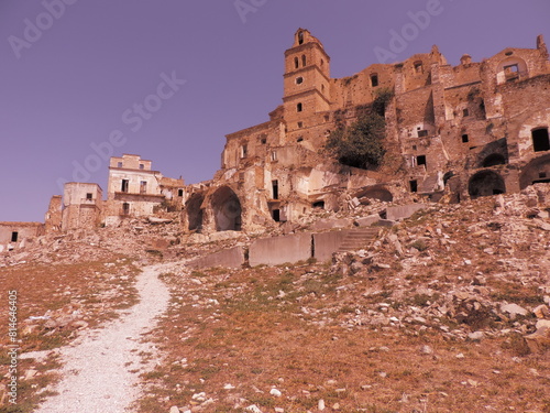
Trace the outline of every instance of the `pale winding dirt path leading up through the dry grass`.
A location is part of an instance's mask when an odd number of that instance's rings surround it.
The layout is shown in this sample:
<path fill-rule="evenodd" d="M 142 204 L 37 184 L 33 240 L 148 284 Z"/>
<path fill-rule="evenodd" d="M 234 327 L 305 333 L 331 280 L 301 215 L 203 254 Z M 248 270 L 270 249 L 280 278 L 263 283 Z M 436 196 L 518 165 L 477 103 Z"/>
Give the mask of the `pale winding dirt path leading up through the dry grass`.
<path fill-rule="evenodd" d="M 59 393 L 46 400 L 37 413 L 119 413 L 130 412 L 138 398 L 134 384 L 142 367 L 141 351 L 153 351 L 140 344 L 140 334 L 154 327 L 154 318 L 168 304 L 169 292 L 158 280 L 161 267 L 147 267 L 139 275 L 140 303 L 120 319 L 90 330 L 70 347 L 63 348 L 64 379 L 55 388 Z M 131 371 L 134 372 L 131 372 Z"/>

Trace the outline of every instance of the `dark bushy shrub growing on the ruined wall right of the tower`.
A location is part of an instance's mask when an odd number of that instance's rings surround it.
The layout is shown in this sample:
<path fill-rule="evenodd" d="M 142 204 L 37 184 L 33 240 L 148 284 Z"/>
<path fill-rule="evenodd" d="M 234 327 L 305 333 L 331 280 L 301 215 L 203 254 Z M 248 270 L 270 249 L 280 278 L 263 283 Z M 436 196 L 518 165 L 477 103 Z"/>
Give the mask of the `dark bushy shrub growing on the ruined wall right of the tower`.
<path fill-rule="evenodd" d="M 350 126 L 340 122 L 327 140 L 324 149 L 341 164 L 361 169 L 378 167 L 384 159 L 386 121 L 384 112 L 393 91 L 382 89 L 371 110 L 358 117 Z"/>

